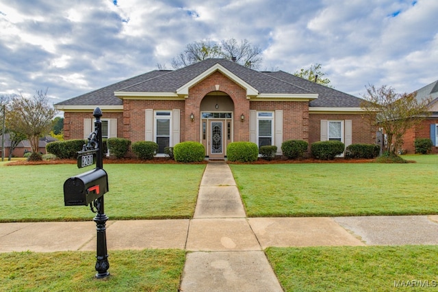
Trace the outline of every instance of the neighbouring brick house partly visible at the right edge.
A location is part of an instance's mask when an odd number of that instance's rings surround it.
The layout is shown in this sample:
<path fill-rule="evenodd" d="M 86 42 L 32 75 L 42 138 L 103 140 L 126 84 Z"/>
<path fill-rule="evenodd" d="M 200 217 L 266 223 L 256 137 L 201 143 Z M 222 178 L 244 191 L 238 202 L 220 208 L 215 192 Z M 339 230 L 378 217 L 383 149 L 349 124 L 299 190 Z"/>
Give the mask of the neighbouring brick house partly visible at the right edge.
<path fill-rule="evenodd" d="M 416 98 L 417 101 L 432 99 L 429 103 L 430 116 L 404 134 L 402 150 L 413 153 L 415 152 L 415 139 L 430 137 L 433 144 L 432 152 L 438 153 L 438 80 L 417 90 Z"/>

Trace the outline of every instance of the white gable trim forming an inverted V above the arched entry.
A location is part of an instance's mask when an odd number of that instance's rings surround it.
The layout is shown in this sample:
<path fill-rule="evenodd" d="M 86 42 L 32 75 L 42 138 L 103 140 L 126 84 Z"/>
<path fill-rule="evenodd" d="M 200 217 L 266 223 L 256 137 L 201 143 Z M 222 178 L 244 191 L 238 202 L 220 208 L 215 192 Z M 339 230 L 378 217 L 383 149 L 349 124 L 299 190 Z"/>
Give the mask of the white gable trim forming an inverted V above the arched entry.
<path fill-rule="evenodd" d="M 248 83 L 240 79 L 237 75 L 233 74 L 230 70 L 224 68 L 224 66 L 220 64 L 214 64 L 214 66 L 211 66 L 209 69 L 205 70 L 200 75 L 190 80 L 188 83 L 182 85 L 180 88 L 177 89 L 177 94 L 188 96 L 189 88 L 196 85 L 196 83 L 203 81 L 203 79 L 209 77 L 209 75 L 213 74 L 216 71 L 221 72 L 223 75 L 229 77 L 229 79 L 231 79 L 235 83 L 245 88 L 247 96 L 257 96 L 257 94 L 259 94 L 259 91 L 253 88 L 253 86 L 249 85 Z"/>

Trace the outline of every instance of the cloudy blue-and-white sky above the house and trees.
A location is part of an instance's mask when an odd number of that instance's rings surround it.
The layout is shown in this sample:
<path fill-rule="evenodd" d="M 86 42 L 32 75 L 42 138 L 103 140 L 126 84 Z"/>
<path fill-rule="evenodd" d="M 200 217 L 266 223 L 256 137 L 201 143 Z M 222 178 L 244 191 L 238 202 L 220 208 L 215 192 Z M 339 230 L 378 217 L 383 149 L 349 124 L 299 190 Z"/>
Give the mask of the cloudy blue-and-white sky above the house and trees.
<path fill-rule="evenodd" d="M 437 15 L 437 0 L 0 0 L 0 94 L 56 103 L 229 38 L 262 49 L 260 70 L 319 63 L 343 92 L 412 92 L 438 79 Z"/>

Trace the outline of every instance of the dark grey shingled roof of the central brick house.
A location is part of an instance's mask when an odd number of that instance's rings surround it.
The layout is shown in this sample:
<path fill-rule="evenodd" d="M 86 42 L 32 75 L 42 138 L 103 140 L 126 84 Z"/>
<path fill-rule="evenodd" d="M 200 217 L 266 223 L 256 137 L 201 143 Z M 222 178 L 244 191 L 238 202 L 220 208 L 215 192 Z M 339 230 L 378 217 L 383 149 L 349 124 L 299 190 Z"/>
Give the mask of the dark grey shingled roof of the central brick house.
<path fill-rule="evenodd" d="M 178 70 L 153 70 L 56 105 L 123 105 L 123 101 L 116 97 L 114 92 L 176 93 L 181 86 L 196 79 L 217 64 L 248 83 L 259 94 L 318 94 L 318 98 L 310 102 L 310 107 L 360 107 L 361 98 L 350 94 L 327 88 L 287 72 L 259 72 L 227 59 L 206 59 Z"/>

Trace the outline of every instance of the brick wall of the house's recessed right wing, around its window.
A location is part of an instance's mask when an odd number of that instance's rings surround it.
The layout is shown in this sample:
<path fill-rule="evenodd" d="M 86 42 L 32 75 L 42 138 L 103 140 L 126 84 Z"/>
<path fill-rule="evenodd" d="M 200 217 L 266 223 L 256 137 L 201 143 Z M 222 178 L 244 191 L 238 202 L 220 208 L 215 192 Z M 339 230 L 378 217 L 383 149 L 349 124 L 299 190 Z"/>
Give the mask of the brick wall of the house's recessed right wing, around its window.
<path fill-rule="evenodd" d="M 351 120 L 352 144 L 374 144 L 376 129 L 362 118 L 360 114 L 309 114 L 309 144 L 321 140 L 321 120 Z"/>

